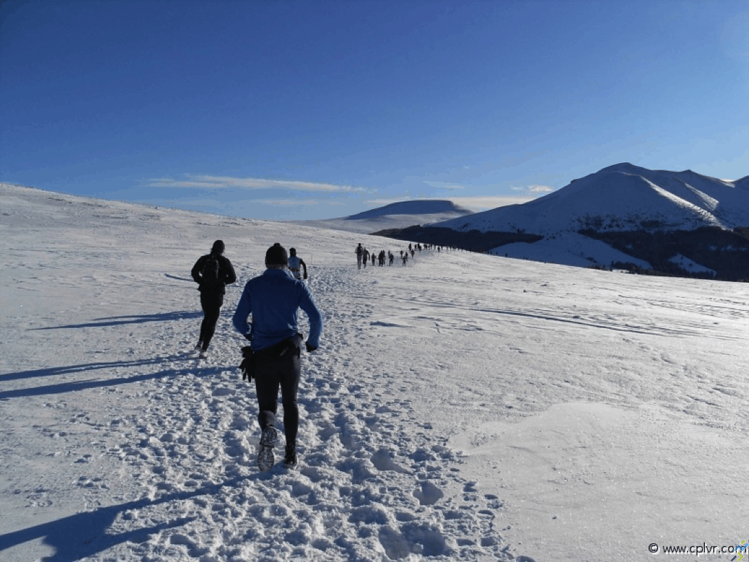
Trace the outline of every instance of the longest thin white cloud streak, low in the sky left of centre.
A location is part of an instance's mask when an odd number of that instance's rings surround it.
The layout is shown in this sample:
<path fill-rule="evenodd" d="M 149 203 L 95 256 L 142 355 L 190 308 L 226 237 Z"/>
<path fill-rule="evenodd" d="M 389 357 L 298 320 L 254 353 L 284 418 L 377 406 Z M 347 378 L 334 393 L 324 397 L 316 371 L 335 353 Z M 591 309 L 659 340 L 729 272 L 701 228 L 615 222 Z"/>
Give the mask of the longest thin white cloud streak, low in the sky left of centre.
<path fill-rule="evenodd" d="M 370 191 L 366 187 L 344 184 L 326 184 L 313 181 L 295 181 L 266 178 L 231 178 L 228 176 L 191 175 L 184 178 L 157 178 L 149 180 L 148 187 L 168 187 L 200 190 L 264 190 L 285 189 L 293 191 L 315 191 L 324 193 L 352 193 Z"/>

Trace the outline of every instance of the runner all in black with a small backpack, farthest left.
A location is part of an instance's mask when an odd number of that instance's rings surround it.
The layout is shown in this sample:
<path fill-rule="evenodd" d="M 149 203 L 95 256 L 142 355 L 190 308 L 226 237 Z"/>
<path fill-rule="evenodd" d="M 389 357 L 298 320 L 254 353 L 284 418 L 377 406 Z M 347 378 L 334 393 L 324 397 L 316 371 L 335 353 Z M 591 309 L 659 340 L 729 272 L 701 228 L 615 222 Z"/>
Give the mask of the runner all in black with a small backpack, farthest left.
<path fill-rule="evenodd" d="M 198 283 L 198 291 L 200 291 L 200 306 L 203 309 L 203 321 L 200 324 L 200 337 L 198 338 L 198 344 L 195 345 L 195 349 L 200 353 L 200 357 L 206 357 L 208 345 L 210 345 L 210 339 L 213 338 L 213 333 L 216 332 L 216 322 L 219 321 L 219 314 L 221 313 L 221 305 L 224 303 L 224 294 L 226 292 L 226 285 L 237 282 L 237 274 L 234 273 L 234 268 L 231 267 L 231 262 L 225 256 L 224 243 L 220 240 L 213 242 L 213 248 L 210 249 L 210 254 L 201 256 L 195 265 L 192 266 L 192 279 Z M 209 282 L 203 278 L 204 268 L 206 262 L 210 259 L 216 259 L 218 261 L 218 276 L 216 281 Z"/>

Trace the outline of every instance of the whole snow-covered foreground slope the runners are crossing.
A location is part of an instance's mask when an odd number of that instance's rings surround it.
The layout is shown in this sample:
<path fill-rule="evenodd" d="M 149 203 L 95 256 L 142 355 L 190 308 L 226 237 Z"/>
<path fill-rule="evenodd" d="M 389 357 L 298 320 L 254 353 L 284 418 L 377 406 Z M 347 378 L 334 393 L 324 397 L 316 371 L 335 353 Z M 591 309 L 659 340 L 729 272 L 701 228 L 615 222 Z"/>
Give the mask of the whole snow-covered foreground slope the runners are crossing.
<path fill-rule="evenodd" d="M 0 201 L 3 561 L 645 561 L 749 540 L 749 285 L 467 252 L 357 271 L 357 241 L 406 244 Z M 189 269 L 218 238 L 240 282 L 199 362 Z M 326 325 L 300 468 L 261 474 L 229 317 L 276 241 Z"/>

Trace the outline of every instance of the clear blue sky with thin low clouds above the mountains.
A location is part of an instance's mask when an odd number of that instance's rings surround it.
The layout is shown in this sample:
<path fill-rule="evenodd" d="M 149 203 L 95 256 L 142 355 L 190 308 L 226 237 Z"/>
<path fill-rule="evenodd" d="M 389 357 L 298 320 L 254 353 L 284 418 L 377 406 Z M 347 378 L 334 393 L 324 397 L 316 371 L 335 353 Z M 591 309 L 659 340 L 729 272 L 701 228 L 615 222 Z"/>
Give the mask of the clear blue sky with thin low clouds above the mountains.
<path fill-rule="evenodd" d="M 0 181 L 239 217 L 749 175 L 749 1 L 4 1 Z"/>

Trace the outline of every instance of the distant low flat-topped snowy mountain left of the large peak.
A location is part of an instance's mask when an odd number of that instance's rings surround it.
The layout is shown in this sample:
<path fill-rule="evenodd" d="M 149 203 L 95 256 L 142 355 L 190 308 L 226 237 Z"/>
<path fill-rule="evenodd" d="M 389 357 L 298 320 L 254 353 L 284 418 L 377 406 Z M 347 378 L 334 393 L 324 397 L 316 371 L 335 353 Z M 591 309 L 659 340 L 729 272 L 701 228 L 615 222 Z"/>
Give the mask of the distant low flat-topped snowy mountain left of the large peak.
<path fill-rule="evenodd" d="M 403 229 L 413 225 L 440 223 L 473 214 L 467 208 L 443 199 L 418 199 L 391 203 L 349 217 L 324 220 L 294 220 L 290 223 L 322 229 L 372 234 L 385 229 Z"/>

